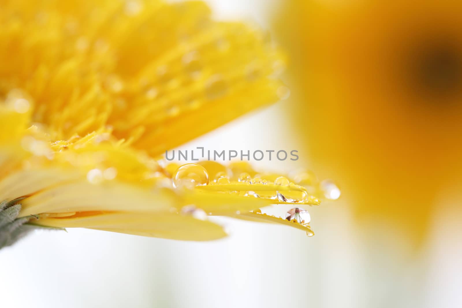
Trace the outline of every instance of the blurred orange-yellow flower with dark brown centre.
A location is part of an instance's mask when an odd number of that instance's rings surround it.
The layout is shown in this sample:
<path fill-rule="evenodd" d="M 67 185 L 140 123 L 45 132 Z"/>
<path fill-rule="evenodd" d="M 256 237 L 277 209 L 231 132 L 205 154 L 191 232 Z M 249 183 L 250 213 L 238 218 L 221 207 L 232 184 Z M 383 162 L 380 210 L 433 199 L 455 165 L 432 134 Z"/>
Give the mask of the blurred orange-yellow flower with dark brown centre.
<path fill-rule="evenodd" d="M 358 217 L 419 243 L 462 182 L 461 1 L 284 1 L 291 114 Z M 308 121 L 307 121 L 308 118 Z M 300 136 L 302 137 L 302 136 Z M 320 150 L 321 149 L 321 150 Z"/>

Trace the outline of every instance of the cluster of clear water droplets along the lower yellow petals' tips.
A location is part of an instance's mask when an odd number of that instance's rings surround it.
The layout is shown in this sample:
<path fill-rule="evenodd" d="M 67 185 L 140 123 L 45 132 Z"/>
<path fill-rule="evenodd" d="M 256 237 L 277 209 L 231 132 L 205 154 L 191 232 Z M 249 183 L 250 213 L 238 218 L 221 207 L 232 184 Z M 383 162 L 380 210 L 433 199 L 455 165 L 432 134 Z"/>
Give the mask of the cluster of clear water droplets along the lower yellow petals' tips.
<path fill-rule="evenodd" d="M 172 167 L 176 169 L 171 171 Z M 242 163 L 238 166 L 226 168 L 219 163 L 205 161 L 201 163 L 187 163 L 181 166 L 171 164 L 166 169 L 170 169 L 174 188 L 192 189 L 207 185 L 223 185 L 223 190 L 219 189 L 217 192 L 237 193 L 240 196 L 252 198 L 274 199 L 277 203 L 319 203 L 319 200 L 312 197 L 305 187 L 291 182 L 287 177 L 258 175 L 255 171 L 249 169 L 249 166 Z M 340 190 L 334 182 L 330 180 L 318 182 L 312 173 L 299 173 L 294 177 L 294 181 L 311 187 L 310 192 L 322 193 L 326 199 L 338 199 L 340 197 Z M 268 190 L 267 188 L 269 187 L 264 187 L 265 185 L 272 185 L 274 190 Z M 236 191 L 236 187 L 245 187 L 245 189 Z M 277 187 L 280 187 L 280 189 Z M 194 205 L 183 207 L 181 213 L 201 217 L 201 219 L 205 216 L 205 213 Z M 266 215 L 262 214 L 260 209 L 255 209 L 253 213 Z M 287 221 L 306 227 L 305 232 L 307 236 L 314 235 L 314 232 L 310 229 L 310 213 L 308 211 L 295 207 L 287 211 L 284 218 Z"/>

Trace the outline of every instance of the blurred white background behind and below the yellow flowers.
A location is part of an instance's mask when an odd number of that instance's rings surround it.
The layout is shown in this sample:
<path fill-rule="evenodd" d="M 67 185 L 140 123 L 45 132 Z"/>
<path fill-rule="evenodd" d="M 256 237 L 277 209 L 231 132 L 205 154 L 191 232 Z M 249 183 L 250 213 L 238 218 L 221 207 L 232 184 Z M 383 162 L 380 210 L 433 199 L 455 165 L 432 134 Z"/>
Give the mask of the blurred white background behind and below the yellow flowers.
<path fill-rule="evenodd" d="M 217 18 L 252 20 L 268 29 L 279 6 L 207 2 Z M 180 148 L 295 149 L 296 162 L 265 159 L 255 168 L 286 173 L 308 165 L 319 171 L 286 108 L 287 101 L 246 115 Z M 387 217 L 359 226 L 354 201 L 344 195 L 309 208 L 311 238 L 297 229 L 232 219 L 219 219 L 229 237 L 199 243 L 89 229 L 36 231 L 0 252 L 2 307 L 461 307 L 459 190 L 441 190 L 418 251 Z M 268 211 L 283 215 L 288 209 Z"/>

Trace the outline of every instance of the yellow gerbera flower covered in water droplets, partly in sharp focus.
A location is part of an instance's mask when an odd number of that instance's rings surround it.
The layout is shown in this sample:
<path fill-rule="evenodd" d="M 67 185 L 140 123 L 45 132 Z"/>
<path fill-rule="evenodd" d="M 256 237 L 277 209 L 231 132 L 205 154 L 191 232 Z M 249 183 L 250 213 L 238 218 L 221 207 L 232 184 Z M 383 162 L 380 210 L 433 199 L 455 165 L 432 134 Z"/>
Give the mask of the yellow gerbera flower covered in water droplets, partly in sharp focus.
<path fill-rule="evenodd" d="M 286 219 L 259 210 L 319 204 L 286 178 L 254 179 L 245 163 L 158 162 L 284 94 L 284 58 L 266 35 L 211 20 L 202 2 L 2 2 L 0 247 L 38 226 L 225 236 L 208 215 L 313 235 L 301 209 Z M 312 178 L 297 181 L 318 192 Z"/>

